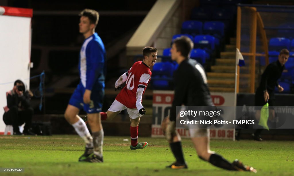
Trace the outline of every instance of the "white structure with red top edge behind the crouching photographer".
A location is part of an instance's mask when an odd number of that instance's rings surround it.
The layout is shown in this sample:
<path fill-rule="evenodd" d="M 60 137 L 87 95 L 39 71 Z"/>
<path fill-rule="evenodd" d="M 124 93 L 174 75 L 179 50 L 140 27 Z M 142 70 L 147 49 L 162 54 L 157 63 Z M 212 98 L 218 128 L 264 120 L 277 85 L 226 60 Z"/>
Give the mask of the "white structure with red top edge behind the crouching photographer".
<path fill-rule="evenodd" d="M 6 126 L 2 120 L 6 92 L 19 78 L 30 85 L 32 16 L 33 9 L 0 6 L 0 134 Z"/>

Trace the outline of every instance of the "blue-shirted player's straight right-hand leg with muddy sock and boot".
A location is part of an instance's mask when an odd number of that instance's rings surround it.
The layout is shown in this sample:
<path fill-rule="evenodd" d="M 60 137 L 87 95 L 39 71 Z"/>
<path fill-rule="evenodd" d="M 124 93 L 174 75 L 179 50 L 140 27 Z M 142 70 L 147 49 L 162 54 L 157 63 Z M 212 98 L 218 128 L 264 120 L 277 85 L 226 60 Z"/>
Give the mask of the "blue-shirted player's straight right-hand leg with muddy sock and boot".
<path fill-rule="evenodd" d="M 92 163 L 101 163 L 103 162 L 104 132 L 101 124 L 100 113 L 88 114 L 88 124 L 92 131 L 93 153 L 86 158 L 86 161 Z"/>

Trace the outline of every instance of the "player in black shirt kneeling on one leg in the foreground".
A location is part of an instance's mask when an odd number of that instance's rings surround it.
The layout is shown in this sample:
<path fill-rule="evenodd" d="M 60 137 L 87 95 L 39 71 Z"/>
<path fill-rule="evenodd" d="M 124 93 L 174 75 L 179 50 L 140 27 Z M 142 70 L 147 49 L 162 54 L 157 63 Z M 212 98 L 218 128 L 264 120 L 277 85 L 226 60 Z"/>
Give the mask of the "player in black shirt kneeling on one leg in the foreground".
<path fill-rule="evenodd" d="M 167 166 L 171 169 L 188 168 L 183 156 L 181 137 L 176 131 L 176 106 L 214 106 L 203 67 L 197 61 L 188 58 L 192 49 L 193 42 L 185 36 L 175 39 L 171 48 L 171 58 L 179 64 L 179 67 L 174 73 L 175 94 L 170 117 L 162 122 L 162 130 L 176 158 L 176 162 Z M 226 170 L 256 172 L 254 168 L 244 166 L 238 160 L 230 163 L 210 151 L 208 129 L 189 129 L 189 131 L 200 159 Z"/>

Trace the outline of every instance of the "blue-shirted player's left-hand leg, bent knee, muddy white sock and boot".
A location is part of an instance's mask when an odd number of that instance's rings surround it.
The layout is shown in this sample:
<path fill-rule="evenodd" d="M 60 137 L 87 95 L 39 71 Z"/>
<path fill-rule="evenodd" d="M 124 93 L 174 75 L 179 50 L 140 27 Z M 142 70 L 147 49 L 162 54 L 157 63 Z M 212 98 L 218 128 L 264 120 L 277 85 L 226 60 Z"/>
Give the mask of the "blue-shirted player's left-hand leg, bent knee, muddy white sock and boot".
<path fill-rule="evenodd" d="M 77 107 L 68 105 L 65 110 L 64 117 L 86 143 L 85 153 L 79 158 L 79 161 L 83 161 L 86 157 L 93 153 L 93 139 L 86 123 L 78 116 L 78 112 L 79 109 Z"/>

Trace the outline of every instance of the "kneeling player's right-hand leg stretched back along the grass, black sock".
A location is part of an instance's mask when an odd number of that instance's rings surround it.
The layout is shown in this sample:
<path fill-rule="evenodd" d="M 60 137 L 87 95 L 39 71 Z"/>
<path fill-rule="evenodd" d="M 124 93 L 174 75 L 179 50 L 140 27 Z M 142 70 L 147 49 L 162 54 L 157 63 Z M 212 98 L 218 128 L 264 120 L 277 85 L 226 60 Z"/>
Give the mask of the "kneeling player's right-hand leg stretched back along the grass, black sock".
<path fill-rule="evenodd" d="M 209 147 L 210 139 L 208 129 L 189 129 L 189 131 L 191 135 L 191 140 L 200 159 L 208 161 L 216 167 L 223 168 L 226 170 L 243 170 L 256 172 L 254 168 L 244 166 L 238 160 L 235 160 L 233 163 L 230 163 L 222 156 L 211 151 Z"/>

